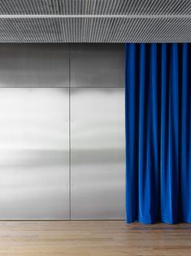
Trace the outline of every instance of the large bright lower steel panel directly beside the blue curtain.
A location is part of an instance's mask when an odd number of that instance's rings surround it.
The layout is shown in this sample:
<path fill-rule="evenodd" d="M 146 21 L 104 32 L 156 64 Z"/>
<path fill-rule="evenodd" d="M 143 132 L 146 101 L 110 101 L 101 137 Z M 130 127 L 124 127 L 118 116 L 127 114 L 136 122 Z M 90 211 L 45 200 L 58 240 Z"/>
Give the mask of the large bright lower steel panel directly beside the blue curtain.
<path fill-rule="evenodd" d="M 124 89 L 71 89 L 72 219 L 124 219 Z"/>

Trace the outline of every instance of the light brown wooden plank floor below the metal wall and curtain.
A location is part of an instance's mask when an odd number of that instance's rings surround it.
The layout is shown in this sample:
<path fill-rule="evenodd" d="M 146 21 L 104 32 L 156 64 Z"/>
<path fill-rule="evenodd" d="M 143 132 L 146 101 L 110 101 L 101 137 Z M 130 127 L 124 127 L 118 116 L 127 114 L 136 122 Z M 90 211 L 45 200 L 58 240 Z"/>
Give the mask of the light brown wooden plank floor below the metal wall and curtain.
<path fill-rule="evenodd" d="M 1 221 L 0 255 L 191 255 L 191 225 Z"/>

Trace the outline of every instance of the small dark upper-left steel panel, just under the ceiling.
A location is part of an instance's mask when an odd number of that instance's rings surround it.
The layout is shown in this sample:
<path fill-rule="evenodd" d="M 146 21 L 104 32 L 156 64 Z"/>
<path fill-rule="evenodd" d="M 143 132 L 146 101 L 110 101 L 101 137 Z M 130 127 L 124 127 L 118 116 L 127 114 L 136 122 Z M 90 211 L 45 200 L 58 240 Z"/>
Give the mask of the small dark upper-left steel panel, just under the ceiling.
<path fill-rule="evenodd" d="M 1 44 L 1 87 L 69 87 L 67 44 Z"/>

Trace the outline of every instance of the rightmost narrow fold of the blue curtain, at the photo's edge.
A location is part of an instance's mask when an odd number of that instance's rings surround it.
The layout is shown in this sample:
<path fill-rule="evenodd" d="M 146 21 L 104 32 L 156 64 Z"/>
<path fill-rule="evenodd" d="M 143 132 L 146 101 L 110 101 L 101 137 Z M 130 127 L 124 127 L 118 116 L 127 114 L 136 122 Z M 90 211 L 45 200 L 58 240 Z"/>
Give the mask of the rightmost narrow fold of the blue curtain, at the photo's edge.
<path fill-rule="evenodd" d="M 191 222 L 191 49 L 182 51 L 182 94 L 180 126 L 180 218 Z"/>

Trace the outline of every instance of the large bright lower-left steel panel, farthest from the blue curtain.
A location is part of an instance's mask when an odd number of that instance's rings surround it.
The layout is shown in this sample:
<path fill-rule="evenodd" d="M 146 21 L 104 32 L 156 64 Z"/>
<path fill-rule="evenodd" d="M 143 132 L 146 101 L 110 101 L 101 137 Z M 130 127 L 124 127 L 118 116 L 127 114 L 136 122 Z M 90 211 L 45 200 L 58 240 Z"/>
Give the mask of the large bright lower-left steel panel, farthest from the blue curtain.
<path fill-rule="evenodd" d="M 69 218 L 69 89 L 0 89 L 0 218 Z"/>

